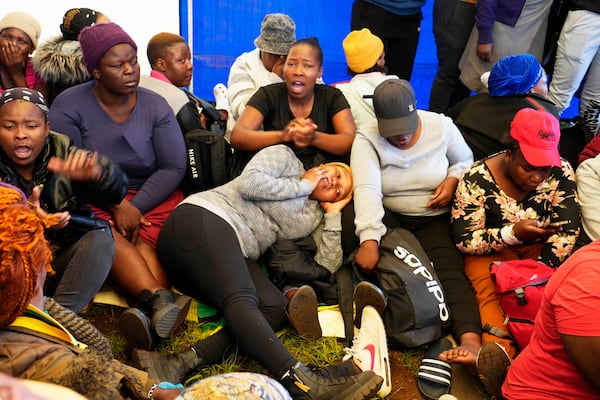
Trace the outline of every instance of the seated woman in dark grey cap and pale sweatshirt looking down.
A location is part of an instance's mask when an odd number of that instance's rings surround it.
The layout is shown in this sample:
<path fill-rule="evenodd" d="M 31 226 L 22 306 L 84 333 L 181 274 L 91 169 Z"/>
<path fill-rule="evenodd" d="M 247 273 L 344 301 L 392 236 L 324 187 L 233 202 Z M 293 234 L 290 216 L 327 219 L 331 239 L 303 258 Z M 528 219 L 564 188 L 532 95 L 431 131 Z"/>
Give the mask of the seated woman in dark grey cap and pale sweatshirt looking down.
<path fill-rule="evenodd" d="M 410 231 L 443 286 L 454 337 L 463 347 L 478 348 L 477 304 L 450 233 L 452 196 L 473 153 L 450 118 L 419 110 L 416 103 L 408 81 L 383 80 L 373 94 L 377 129 L 359 131 L 352 144 L 358 236 L 354 262 L 371 273 L 388 229 Z"/>

